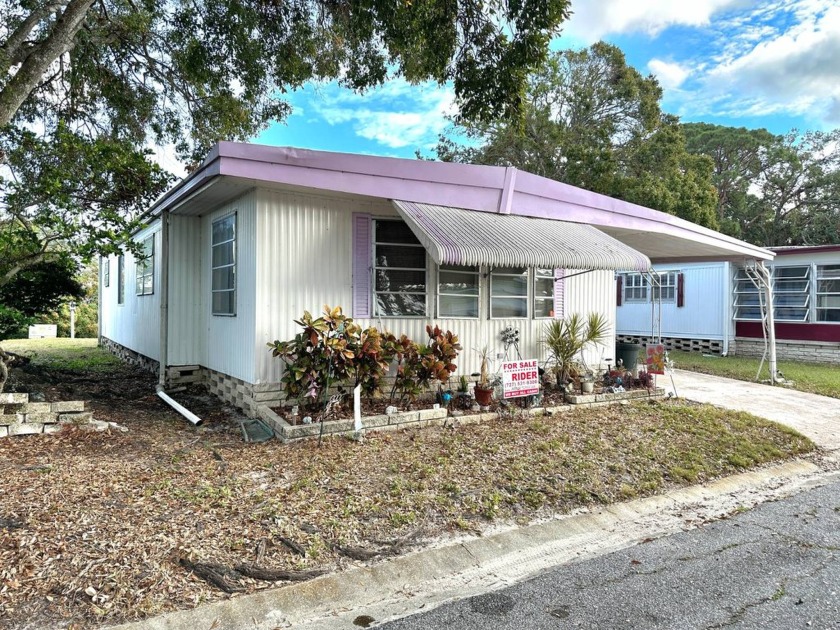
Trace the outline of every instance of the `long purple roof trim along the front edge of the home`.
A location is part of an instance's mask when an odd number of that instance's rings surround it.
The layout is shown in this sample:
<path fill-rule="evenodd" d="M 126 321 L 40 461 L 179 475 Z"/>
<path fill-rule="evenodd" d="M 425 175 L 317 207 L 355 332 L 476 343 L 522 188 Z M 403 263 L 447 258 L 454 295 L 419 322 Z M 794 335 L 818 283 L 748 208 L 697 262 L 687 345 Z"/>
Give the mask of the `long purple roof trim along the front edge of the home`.
<path fill-rule="evenodd" d="M 172 207 L 215 175 L 294 185 L 380 199 L 505 212 L 659 234 L 725 250 L 730 257 L 772 259 L 773 253 L 689 221 L 562 184 L 526 171 L 220 142 L 198 171 L 167 193 L 156 208 Z"/>

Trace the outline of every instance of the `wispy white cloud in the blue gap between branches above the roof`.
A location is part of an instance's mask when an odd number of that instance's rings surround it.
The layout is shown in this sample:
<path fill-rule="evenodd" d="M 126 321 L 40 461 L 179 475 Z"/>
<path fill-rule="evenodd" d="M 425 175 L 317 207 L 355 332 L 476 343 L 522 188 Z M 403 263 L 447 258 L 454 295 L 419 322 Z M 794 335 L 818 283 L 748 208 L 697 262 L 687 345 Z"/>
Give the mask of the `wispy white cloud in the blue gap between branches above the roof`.
<path fill-rule="evenodd" d="M 436 84 L 411 85 L 392 80 L 356 94 L 330 84 L 313 95 L 310 113 L 330 125 L 351 125 L 356 135 L 387 147 L 430 148 L 455 112 L 451 89 Z"/>

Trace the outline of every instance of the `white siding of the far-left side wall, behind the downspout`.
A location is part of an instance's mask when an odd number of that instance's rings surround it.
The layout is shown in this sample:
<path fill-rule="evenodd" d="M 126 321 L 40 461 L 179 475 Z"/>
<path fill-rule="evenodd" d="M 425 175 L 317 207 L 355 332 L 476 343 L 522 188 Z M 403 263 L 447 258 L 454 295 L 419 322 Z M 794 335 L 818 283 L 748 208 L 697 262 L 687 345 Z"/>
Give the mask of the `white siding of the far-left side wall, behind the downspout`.
<path fill-rule="evenodd" d="M 160 221 L 139 232 L 134 240 L 143 241 L 155 236 L 154 293 L 137 295 L 137 265 L 134 256 L 125 254 L 125 301 L 117 304 L 117 256 L 110 257 L 110 286 L 102 286 L 100 272 L 99 299 L 102 302 L 100 331 L 117 343 L 152 359 L 160 358 Z"/>

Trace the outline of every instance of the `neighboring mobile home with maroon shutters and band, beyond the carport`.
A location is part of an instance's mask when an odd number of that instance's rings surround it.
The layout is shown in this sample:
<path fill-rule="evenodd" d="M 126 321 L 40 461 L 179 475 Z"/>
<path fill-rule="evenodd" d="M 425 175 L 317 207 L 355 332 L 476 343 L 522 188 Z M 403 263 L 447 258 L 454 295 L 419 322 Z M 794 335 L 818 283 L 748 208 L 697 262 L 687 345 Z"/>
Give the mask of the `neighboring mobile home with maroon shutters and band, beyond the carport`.
<path fill-rule="evenodd" d="M 771 248 L 773 315 L 779 358 L 840 361 L 840 245 Z M 761 356 L 765 342 L 758 288 L 737 263 L 654 265 L 662 290 L 662 337 L 671 348 Z M 617 336 L 650 336 L 654 291 L 621 274 Z M 644 285 L 636 288 L 636 285 Z"/>

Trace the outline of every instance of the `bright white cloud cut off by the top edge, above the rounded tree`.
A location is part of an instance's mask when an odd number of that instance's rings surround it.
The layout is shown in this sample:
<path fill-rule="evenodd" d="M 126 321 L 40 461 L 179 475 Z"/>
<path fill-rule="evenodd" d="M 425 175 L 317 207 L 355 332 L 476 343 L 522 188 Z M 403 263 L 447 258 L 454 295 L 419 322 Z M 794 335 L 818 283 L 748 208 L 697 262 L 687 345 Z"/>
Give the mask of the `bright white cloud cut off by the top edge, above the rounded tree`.
<path fill-rule="evenodd" d="M 705 26 L 712 15 L 743 4 L 744 0 L 603 0 L 573 5 L 568 33 L 592 43 L 605 35 L 656 35 L 669 26 Z"/>

